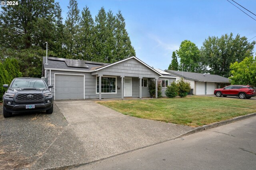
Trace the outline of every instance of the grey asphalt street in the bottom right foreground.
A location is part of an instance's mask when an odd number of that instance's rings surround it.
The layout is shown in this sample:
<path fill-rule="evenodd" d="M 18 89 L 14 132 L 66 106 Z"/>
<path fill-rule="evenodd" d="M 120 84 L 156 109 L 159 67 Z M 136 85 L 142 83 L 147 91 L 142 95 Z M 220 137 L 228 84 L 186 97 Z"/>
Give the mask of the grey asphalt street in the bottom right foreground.
<path fill-rule="evenodd" d="M 87 164 L 74 170 L 255 170 L 256 117 Z"/>

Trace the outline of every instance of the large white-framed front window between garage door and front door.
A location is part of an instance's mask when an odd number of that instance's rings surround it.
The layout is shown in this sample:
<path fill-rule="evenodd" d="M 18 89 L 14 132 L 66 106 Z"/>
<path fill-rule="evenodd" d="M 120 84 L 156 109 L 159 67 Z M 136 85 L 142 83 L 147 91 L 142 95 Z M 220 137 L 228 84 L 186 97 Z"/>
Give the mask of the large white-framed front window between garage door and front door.
<path fill-rule="evenodd" d="M 99 77 L 97 77 L 97 93 L 99 93 Z M 116 77 L 101 77 L 101 93 L 116 93 Z"/>

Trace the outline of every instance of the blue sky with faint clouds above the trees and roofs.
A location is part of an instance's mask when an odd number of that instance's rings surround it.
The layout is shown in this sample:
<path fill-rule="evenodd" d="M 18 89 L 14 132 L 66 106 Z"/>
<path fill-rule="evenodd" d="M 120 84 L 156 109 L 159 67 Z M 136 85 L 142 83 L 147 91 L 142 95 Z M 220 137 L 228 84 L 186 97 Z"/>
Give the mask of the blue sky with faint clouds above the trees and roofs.
<path fill-rule="evenodd" d="M 234 1 L 256 14 L 256 0 Z M 60 3 L 62 17 L 66 19 L 69 1 L 56 0 L 56 2 Z M 162 70 L 168 69 L 172 52 L 179 49 L 180 43 L 184 40 L 190 40 L 200 49 L 209 36 L 220 37 L 231 32 L 234 36 L 237 34 L 246 36 L 248 40 L 256 36 L 256 21 L 227 0 L 77 0 L 77 2 L 80 11 L 88 6 L 94 19 L 102 6 L 106 12 L 112 10 L 114 14 L 120 10 L 136 57 Z M 250 15 L 256 19 L 256 16 Z M 253 40 L 256 41 L 256 37 L 250 42 Z"/>

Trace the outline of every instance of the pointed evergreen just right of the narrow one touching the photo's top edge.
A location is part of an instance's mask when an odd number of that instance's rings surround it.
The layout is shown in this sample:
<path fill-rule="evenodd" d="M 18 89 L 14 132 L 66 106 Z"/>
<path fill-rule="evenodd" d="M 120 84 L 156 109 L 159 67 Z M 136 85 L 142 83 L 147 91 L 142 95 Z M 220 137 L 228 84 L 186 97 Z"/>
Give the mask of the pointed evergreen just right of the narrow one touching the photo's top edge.
<path fill-rule="evenodd" d="M 95 28 L 92 15 L 86 6 L 82 10 L 82 18 L 80 22 L 80 32 L 78 38 L 78 59 L 92 61 L 94 58 Z"/>

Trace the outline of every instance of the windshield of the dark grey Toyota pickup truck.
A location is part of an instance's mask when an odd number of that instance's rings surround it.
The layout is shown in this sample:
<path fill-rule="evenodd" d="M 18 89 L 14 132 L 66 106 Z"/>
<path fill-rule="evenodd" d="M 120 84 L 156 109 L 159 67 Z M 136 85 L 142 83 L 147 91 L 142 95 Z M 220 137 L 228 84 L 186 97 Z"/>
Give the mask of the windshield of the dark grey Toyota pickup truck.
<path fill-rule="evenodd" d="M 11 88 L 46 88 L 43 80 L 15 79 Z"/>

